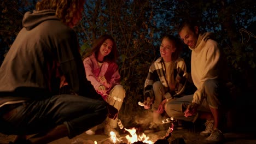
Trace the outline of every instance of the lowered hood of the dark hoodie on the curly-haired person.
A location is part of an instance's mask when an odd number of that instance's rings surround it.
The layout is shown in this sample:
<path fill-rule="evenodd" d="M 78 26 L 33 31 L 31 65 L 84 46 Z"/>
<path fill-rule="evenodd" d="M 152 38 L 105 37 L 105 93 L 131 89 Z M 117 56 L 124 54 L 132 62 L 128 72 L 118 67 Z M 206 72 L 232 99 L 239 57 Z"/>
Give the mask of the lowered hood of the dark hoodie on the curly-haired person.
<path fill-rule="evenodd" d="M 22 20 L 22 26 L 30 31 L 34 27 L 38 26 L 40 23 L 46 20 L 60 20 L 57 16 L 55 16 L 55 10 L 34 10 L 33 13 L 28 11 L 25 13 L 24 18 Z"/>

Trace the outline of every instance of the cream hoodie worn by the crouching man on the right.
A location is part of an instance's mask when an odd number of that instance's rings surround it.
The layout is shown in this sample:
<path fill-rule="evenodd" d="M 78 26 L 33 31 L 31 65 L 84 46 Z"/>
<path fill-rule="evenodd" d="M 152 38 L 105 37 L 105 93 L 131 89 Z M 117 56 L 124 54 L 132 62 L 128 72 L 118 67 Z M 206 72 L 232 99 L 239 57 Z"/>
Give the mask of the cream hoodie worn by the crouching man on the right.
<path fill-rule="evenodd" d="M 201 104 L 202 85 L 208 79 L 220 77 L 222 68 L 218 43 L 210 39 L 212 33 L 200 34 L 195 49 L 191 54 L 191 76 L 197 91 L 194 93 L 192 103 Z"/>

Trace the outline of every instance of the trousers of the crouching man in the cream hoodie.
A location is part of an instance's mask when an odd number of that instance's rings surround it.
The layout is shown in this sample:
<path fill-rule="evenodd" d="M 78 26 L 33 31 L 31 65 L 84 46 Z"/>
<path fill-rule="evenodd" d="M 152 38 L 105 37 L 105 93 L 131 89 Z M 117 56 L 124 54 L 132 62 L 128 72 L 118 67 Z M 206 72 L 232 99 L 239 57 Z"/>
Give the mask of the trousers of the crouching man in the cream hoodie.
<path fill-rule="evenodd" d="M 225 97 L 224 92 L 226 92 L 226 90 L 227 89 L 224 88 L 224 85 L 222 85 L 222 83 L 218 80 L 206 80 L 203 83 L 202 88 L 203 100 L 197 110 L 211 112 L 210 107 L 218 109 L 219 106 L 221 105 L 223 97 Z M 192 100 L 193 94 L 185 95 L 184 97 L 168 101 L 165 104 L 165 111 L 167 115 L 170 117 L 175 117 L 183 121 L 195 122 L 198 117 L 198 113 L 196 113 L 194 116 L 184 116 L 184 111 L 187 109 L 187 106 L 191 103 Z"/>

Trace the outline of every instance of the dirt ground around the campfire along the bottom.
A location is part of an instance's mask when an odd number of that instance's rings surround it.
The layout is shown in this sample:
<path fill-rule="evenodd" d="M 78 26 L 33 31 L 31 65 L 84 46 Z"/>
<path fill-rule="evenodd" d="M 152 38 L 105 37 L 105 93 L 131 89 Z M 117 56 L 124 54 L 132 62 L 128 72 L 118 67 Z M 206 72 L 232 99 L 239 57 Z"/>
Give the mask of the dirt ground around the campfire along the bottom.
<path fill-rule="evenodd" d="M 225 126 L 223 127 L 223 134 L 225 136 L 225 140 L 222 142 L 222 144 L 237 144 L 237 143 L 255 144 L 256 143 L 256 125 L 254 125 L 255 123 L 254 119 L 249 118 L 249 116 L 250 115 L 241 114 L 240 119 L 242 121 L 238 121 L 240 120 L 238 118 L 236 119 L 230 118 L 230 120 L 227 121 L 226 127 Z M 133 118 L 136 119 L 136 117 L 133 117 Z M 147 128 L 147 126 L 143 126 L 143 124 L 148 122 L 144 117 L 142 117 L 141 119 L 143 119 L 143 121 L 141 122 L 138 120 L 136 121 L 136 123 L 127 122 L 123 124 L 127 129 L 131 129 L 132 127 L 135 127 L 137 129 L 136 133 L 142 134 L 141 131 L 144 131 L 143 129 Z M 151 117 L 149 117 L 149 119 L 151 119 Z M 235 120 L 237 122 L 235 122 Z M 146 134 L 146 135 L 149 137 L 149 140 L 153 142 L 159 139 L 162 139 L 162 137 L 165 136 L 168 127 L 170 127 L 170 124 L 171 123 L 163 124 L 164 125 L 163 130 L 158 131 L 156 133 Z M 168 142 L 171 144 L 207 143 L 207 141 L 205 140 L 206 137 L 203 137 L 200 135 L 200 131 L 205 129 L 205 125 L 203 124 L 204 124 L 203 121 L 202 122 L 197 121 L 194 124 L 189 122 L 187 123 L 183 122 L 183 129 L 177 129 L 177 127 L 174 127 L 172 136 L 168 139 Z M 68 139 L 68 137 L 63 137 L 62 139 L 55 140 L 53 142 L 50 142 L 49 144 L 95 144 L 95 141 L 97 142 L 97 144 L 112 144 L 112 142 L 110 141 L 110 137 L 107 135 L 104 135 L 102 129 L 103 129 L 103 126 L 101 126 L 101 128 L 96 131 L 96 135 L 87 135 L 83 133 L 76 137 L 73 137 L 73 139 Z M 129 133 L 124 129 L 120 130 L 119 128 L 117 128 L 116 130 L 118 130 L 120 133 L 119 139 L 123 140 L 123 141 L 120 141 L 119 143 L 122 143 L 122 144 L 127 143 L 125 136 L 129 135 Z M 9 141 L 12 141 L 14 139 L 14 137 L 15 135 L 4 135 L 0 133 L 0 144 L 8 144 Z"/>

